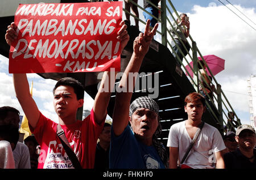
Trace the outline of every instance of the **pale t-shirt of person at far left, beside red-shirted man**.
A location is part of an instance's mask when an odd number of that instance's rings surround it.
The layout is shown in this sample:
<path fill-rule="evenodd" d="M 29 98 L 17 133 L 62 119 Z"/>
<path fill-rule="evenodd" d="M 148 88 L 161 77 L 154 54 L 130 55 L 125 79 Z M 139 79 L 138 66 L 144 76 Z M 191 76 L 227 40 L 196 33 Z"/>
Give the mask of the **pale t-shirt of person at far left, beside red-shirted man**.
<path fill-rule="evenodd" d="M 30 152 L 26 144 L 18 142 L 13 151 L 15 169 L 30 169 Z"/>

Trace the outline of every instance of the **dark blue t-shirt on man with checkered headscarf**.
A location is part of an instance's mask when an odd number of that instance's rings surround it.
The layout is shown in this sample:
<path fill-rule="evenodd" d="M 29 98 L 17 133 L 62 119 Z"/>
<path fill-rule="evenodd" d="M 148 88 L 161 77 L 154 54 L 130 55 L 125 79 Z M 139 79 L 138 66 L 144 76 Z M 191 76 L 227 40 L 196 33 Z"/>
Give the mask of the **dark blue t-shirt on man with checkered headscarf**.
<path fill-rule="evenodd" d="M 111 127 L 109 167 L 112 169 L 164 169 L 164 164 L 153 145 L 139 141 L 127 125 L 118 137 Z"/>

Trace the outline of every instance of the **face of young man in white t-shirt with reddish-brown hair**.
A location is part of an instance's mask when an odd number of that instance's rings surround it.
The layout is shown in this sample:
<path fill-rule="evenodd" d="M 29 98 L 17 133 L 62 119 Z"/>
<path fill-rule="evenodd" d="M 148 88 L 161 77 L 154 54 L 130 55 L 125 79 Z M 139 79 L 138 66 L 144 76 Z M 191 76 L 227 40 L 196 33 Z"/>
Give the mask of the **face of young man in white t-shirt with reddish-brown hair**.
<path fill-rule="evenodd" d="M 185 112 L 188 114 L 188 119 L 192 121 L 201 120 L 205 112 L 205 106 L 201 101 L 188 102 L 184 107 Z"/>

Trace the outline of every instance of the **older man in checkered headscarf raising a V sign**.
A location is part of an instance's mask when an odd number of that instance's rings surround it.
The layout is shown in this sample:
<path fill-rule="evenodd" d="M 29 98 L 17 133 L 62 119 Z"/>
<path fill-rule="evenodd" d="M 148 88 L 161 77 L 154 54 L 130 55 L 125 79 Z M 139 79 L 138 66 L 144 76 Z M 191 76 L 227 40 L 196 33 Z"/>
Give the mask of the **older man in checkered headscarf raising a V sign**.
<path fill-rule="evenodd" d="M 144 33 L 134 40 L 134 52 L 119 83 L 120 89 L 134 89 L 136 76 L 158 24 L 150 31 L 147 20 Z M 131 82 L 131 77 L 133 81 Z M 129 78 L 130 77 L 130 78 Z M 132 91 L 117 91 L 110 143 L 110 168 L 167 168 L 168 155 L 156 140 L 160 131 L 159 106 L 150 97 L 139 97 L 130 105 Z M 130 108 L 129 108 L 130 107 Z M 129 110 L 130 109 L 130 110 Z M 130 122 L 130 125 L 128 125 Z"/>

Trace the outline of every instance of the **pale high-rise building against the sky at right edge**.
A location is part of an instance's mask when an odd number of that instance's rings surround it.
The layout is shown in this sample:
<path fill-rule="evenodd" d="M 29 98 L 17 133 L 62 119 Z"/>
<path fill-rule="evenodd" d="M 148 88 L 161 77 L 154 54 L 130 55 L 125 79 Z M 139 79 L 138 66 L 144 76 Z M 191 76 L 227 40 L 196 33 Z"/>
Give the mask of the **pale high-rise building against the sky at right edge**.
<path fill-rule="evenodd" d="M 247 80 L 248 93 L 249 93 L 249 108 L 250 108 L 250 124 L 256 127 L 256 75 L 250 75 Z"/>

